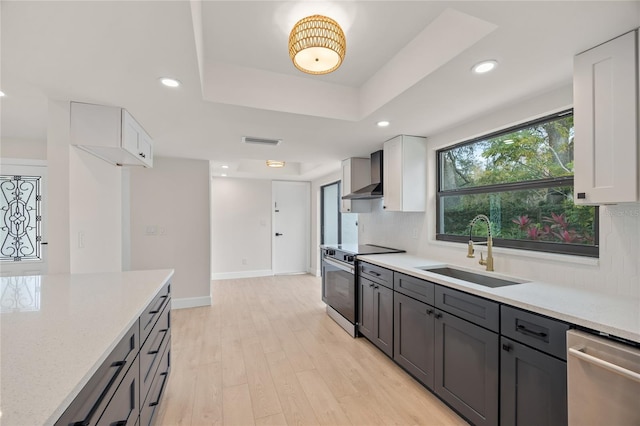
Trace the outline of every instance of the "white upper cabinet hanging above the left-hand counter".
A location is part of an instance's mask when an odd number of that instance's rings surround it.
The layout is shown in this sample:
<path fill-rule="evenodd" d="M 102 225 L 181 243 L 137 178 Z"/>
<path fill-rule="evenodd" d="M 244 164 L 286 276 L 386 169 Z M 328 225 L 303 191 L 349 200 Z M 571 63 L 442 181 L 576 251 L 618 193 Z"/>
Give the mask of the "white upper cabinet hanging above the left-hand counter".
<path fill-rule="evenodd" d="M 71 144 L 118 166 L 153 167 L 153 141 L 123 108 L 71 102 Z"/>

